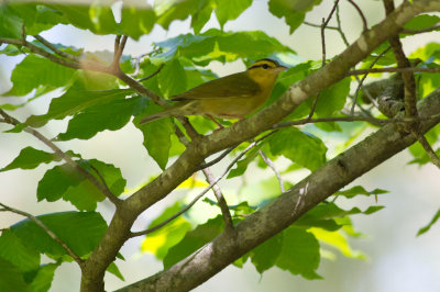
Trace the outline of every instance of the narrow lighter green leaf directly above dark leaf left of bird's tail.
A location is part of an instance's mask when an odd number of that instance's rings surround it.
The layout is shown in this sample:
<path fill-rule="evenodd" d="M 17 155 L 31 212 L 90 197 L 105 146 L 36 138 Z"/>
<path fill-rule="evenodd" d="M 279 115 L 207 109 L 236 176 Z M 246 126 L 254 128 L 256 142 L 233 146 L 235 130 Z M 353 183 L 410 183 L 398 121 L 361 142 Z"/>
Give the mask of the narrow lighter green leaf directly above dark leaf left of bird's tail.
<path fill-rule="evenodd" d="M 84 91 L 70 88 L 59 98 L 53 99 L 46 114 L 31 115 L 26 124 L 33 127 L 45 125 L 51 120 L 62 120 L 87 108 L 102 104 L 111 100 L 122 100 L 133 93 L 132 89 L 112 89 L 101 91 Z"/>

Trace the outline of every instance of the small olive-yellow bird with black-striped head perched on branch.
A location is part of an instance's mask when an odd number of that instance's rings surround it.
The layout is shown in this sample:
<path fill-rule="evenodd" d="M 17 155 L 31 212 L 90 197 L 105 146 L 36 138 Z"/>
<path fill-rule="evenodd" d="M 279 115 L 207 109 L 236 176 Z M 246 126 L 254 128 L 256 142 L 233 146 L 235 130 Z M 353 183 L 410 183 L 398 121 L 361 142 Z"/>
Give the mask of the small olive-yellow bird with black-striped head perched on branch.
<path fill-rule="evenodd" d="M 213 117 L 240 119 L 262 106 L 280 71 L 287 67 L 273 59 L 261 59 L 248 70 L 215 79 L 175 96 L 172 106 L 145 116 L 140 124 L 166 116 L 206 115 L 222 127 Z"/>

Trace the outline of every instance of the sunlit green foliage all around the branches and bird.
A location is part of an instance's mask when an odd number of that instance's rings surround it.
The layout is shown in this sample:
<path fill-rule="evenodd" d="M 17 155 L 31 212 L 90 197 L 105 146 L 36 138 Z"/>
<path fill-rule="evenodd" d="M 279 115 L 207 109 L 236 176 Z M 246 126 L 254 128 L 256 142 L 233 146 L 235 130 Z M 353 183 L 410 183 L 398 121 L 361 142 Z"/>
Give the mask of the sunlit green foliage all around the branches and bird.
<path fill-rule="evenodd" d="M 226 31 L 227 23 L 238 19 L 251 7 L 252 2 L 252 0 L 156 0 L 151 7 L 145 4 L 145 1 L 131 0 L 123 1 L 123 5 L 118 11 L 120 20 L 114 16 L 116 8 L 106 5 L 105 1 L 94 1 L 89 5 L 61 2 L 2 2 L 0 4 L 0 37 L 20 41 L 24 35 L 30 44 L 47 54 L 54 53 L 54 49 L 32 35 L 46 32 L 55 25 L 73 25 L 79 31 L 87 30 L 96 35 L 123 34 L 136 41 L 150 34 L 155 25 L 168 30 L 174 22 L 187 18 L 190 18 L 193 30 L 190 33 L 179 34 L 166 41 L 154 42 L 153 49 L 144 56 L 122 56 L 122 71 L 132 75 L 135 79 L 155 74 L 140 82 L 152 93 L 151 96 L 136 91 L 135 88 L 119 80 L 117 76 L 63 66 L 16 43 L 0 46 L 0 54 L 7 57 L 21 56 L 12 70 L 12 88 L 2 93 L 3 97 L 15 97 L 19 101 L 13 104 L 1 102 L 0 109 L 8 110 L 13 115 L 19 108 L 31 108 L 35 99 L 45 98 L 47 93 L 54 97 L 46 113 L 32 114 L 25 122 L 12 127 L 2 127 L 2 131 L 21 135 L 26 126 L 28 128 L 48 128 L 53 121 L 69 117 L 67 128 L 52 138 L 53 143 L 58 143 L 72 139 L 88 141 L 101 132 L 119 131 L 128 124 L 134 124 L 143 135 L 143 147 L 148 156 L 162 170 L 165 170 L 170 158 L 182 155 L 185 147 L 175 134 L 174 120 L 163 119 L 143 125 L 139 124 L 142 117 L 162 109 L 152 98 L 153 94 L 169 99 L 217 78 L 217 75 L 206 67 L 213 61 L 226 64 L 241 60 L 249 65 L 253 60 L 271 57 L 280 61 L 285 60 L 285 65 L 290 68 L 279 77 L 270 101 L 265 104 L 268 106 L 290 85 L 320 67 L 320 63 L 315 60 L 298 63 L 299 58 L 296 57 L 293 48 L 265 32 Z M 268 11 L 276 18 L 284 18 L 293 33 L 304 23 L 306 13 L 320 2 L 320 0 L 270 0 Z M 207 27 L 206 24 L 211 18 L 217 19 L 220 29 Z M 432 26 L 438 21 L 438 16 L 420 15 L 413 19 L 405 29 L 421 30 Z M 106 66 L 111 64 L 110 53 L 86 52 L 81 46 L 82 44 L 78 44 L 77 47 L 54 44 L 58 50 L 55 53 L 62 60 L 81 59 L 84 63 L 94 60 Z M 68 54 L 72 59 L 64 57 L 62 53 Z M 367 56 L 359 67 L 367 68 L 374 57 L 374 54 Z M 410 55 L 410 58 L 418 58 L 419 67 L 439 68 L 440 45 L 432 43 L 420 47 Z M 378 67 L 396 64 L 391 53 L 381 61 L 377 63 Z M 424 72 L 418 74 L 417 78 L 420 97 L 426 97 L 440 87 L 438 76 Z M 323 89 L 319 94 L 314 117 L 345 116 L 345 109 L 352 104 L 350 92 L 353 92 L 354 85 L 356 85 L 354 79 L 346 77 L 334 86 Z M 362 105 L 366 103 L 362 100 L 359 102 Z M 311 106 L 311 100 L 301 103 L 285 121 L 306 117 Z M 381 113 L 372 111 L 371 114 L 380 116 Z M 189 121 L 201 134 L 213 130 L 212 122 L 207 119 L 189 117 Z M 183 130 L 179 124 L 177 126 Z M 342 136 L 344 143 L 339 147 L 339 151 L 342 151 L 352 143 L 353 133 L 359 136 L 372 127 L 361 123 L 346 126 L 341 122 L 334 122 L 282 128 L 248 151 L 229 171 L 228 178 L 243 180 L 249 178 L 251 164 L 266 169 L 268 173 L 262 153 L 278 167 L 286 165 L 279 162 L 280 157 L 288 159 L 289 166 L 280 171 L 283 177 L 297 170 L 316 171 L 337 154 L 330 149 L 331 142 L 329 143 L 324 137 Z M 438 142 L 439 131 L 440 127 L 437 126 L 427 134 L 431 145 Z M 188 135 L 186 132 L 184 134 Z M 249 145 L 250 143 L 243 143 L 237 146 L 231 151 L 231 156 L 235 157 Z M 410 161 L 413 164 L 424 165 L 430 161 L 419 144 L 409 147 L 409 151 L 414 156 L 414 160 Z M 440 149 L 436 153 L 440 154 Z M 74 150 L 67 150 L 65 154 L 69 160 L 97 181 L 105 182 L 114 196 L 124 193 L 127 181 L 117 166 L 94 158 L 82 158 Z M 51 149 L 42 150 L 28 146 L 21 149 L 11 162 L 2 166 L 0 172 L 13 169 L 35 169 L 48 164 L 36 186 L 37 201 L 64 200 L 69 202 L 75 211 L 44 214 L 37 218 L 76 255 L 87 259 L 108 228 L 102 215 L 96 211 L 106 195 L 76 167 L 68 161 L 63 161 L 63 158 L 53 149 L 52 151 Z M 200 186 L 206 186 L 196 182 L 190 186 L 191 190 L 200 190 Z M 283 183 L 289 187 L 297 182 L 286 179 Z M 254 196 L 253 201 L 238 198 L 235 205 L 229 205 L 235 224 L 242 220 L 243 215 L 257 211 L 280 193 L 279 182 L 275 177 L 251 181 L 246 188 L 242 190 L 243 193 L 252 192 L 260 196 Z M 386 192 L 381 189 L 366 191 L 363 187 L 355 186 L 336 192 L 334 198 L 353 199 L 358 195 L 377 195 Z M 154 227 L 177 213 L 185 206 L 183 202 L 178 201 L 167 207 L 152 221 L 148 227 Z M 218 215 L 217 203 L 206 200 L 200 204 L 216 211 L 202 221 L 191 213 L 179 216 L 163 228 L 147 234 L 142 243 L 142 251 L 154 254 L 157 259 L 163 260 L 166 269 L 221 234 L 224 223 L 221 215 Z M 370 215 L 382 207 L 372 205 L 365 211 L 359 207 L 343 210 L 336 202 L 320 203 L 295 224 L 241 257 L 235 265 L 241 267 L 250 260 L 260 273 L 278 267 L 306 279 L 321 279 L 326 274 L 318 274 L 317 269 L 322 258 L 322 246 L 330 246 L 346 257 L 363 258 L 361 252 L 352 250 L 348 242 L 348 237 L 359 235 L 353 232 L 350 216 Z M 439 212 L 429 225 L 419 231 L 419 234 L 428 231 L 438 217 Z M 43 265 L 42 255 L 47 256 L 51 262 Z M 35 222 L 29 218 L 18 222 L 3 229 L 0 236 L 0 290 L 47 291 L 55 270 L 62 262 L 72 260 L 70 255 L 59 243 L 51 238 Z M 124 272 L 121 273 L 114 262 L 109 266 L 108 271 L 123 279 Z"/>

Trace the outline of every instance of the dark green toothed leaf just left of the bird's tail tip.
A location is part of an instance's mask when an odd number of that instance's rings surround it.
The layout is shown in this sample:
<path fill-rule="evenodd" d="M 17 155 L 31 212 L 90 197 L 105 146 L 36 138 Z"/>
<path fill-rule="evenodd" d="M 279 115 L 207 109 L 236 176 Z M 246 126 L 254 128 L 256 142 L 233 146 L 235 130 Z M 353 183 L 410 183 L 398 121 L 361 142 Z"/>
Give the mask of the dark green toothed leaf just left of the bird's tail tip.
<path fill-rule="evenodd" d="M 58 134 L 57 139 L 88 139 L 105 130 L 119 130 L 130 122 L 132 115 L 144 110 L 147 100 L 145 97 L 138 96 L 89 106 L 69 121 L 67 131 Z"/>

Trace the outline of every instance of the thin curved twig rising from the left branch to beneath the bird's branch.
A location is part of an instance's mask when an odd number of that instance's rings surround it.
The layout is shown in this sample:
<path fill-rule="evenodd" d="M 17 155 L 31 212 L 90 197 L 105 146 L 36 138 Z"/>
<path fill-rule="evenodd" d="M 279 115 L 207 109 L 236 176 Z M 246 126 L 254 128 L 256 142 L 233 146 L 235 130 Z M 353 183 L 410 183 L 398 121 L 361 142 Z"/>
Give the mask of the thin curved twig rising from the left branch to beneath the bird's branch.
<path fill-rule="evenodd" d="M 264 135 L 263 137 L 252 142 L 240 155 L 238 155 L 229 165 L 228 167 L 223 170 L 223 172 L 220 175 L 220 177 L 218 177 L 217 179 L 215 179 L 207 188 L 204 189 L 204 191 L 201 191 L 198 195 L 196 195 L 196 198 L 193 199 L 193 201 L 186 205 L 184 209 L 182 209 L 179 212 L 177 212 L 176 214 L 174 214 L 173 216 L 168 217 L 167 220 L 163 221 L 162 223 L 157 224 L 156 226 L 142 231 L 142 232 L 135 232 L 135 233 L 131 233 L 129 237 L 136 237 L 136 236 L 141 236 L 141 235 L 146 235 L 150 234 L 152 232 L 155 232 L 160 228 L 162 228 L 163 226 L 165 226 L 166 224 L 168 224 L 169 222 L 172 222 L 173 220 L 177 218 L 178 216 L 180 216 L 182 214 L 184 214 L 186 211 L 188 211 L 201 196 L 204 196 L 215 184 L 217 184 L 227 173 L 228 171 L 237 164 L 237 161 L 240 160 L 240 158 L 242 158 L 246 153 L 249 153 L 253 147 L 255 147 L 260 142 L 262 142 L 263 139 L 267 138 L 268 136 L 271 136 L 272 134 L 274 134 L 276 132 L 272 131 L 270 133 L 267 133 L 266 135 Z"/>

